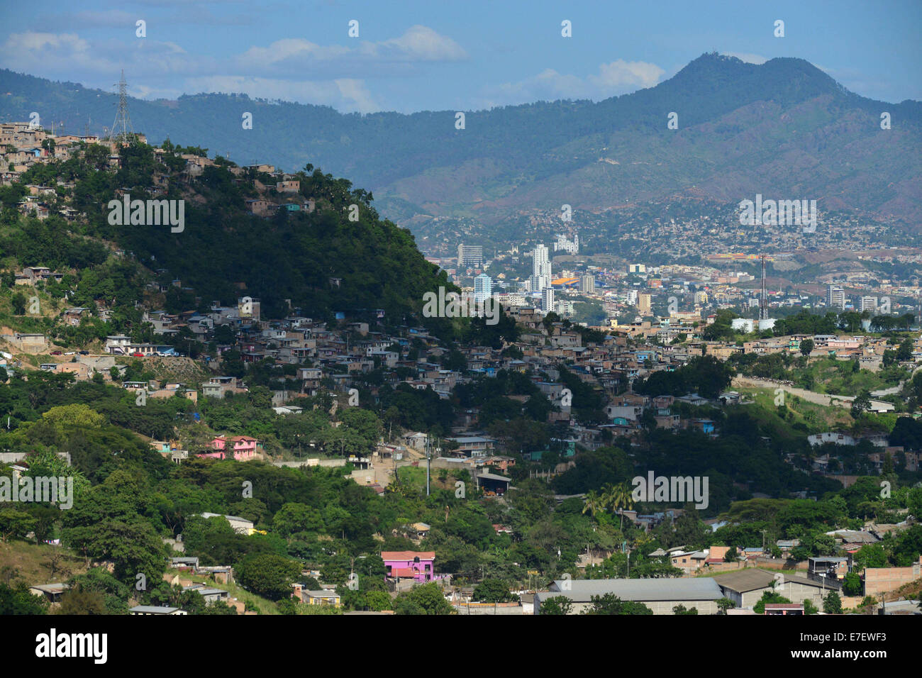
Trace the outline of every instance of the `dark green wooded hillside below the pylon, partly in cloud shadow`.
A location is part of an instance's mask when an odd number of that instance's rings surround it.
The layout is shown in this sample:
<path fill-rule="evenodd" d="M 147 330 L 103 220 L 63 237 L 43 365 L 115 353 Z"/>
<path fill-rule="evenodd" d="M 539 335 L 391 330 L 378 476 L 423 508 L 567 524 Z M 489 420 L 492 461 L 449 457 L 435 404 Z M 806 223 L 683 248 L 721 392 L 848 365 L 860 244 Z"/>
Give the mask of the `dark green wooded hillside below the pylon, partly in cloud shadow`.
<path fill-rule="evenodd" d="M 377 320 L 380 309 L 386 321 L 399 324 L 420 310 L 425 291 L 450 287 L 413 236 L 379 219 L 372 194 L 349 181 L 308 165 L 289 175 L 291 191 L 279 194 L 281 177 L 244 172 L 223 159 L 206 162 L 198 175 L 183 172 L 180 151 L 201 149 L 168 142 L 155 153 L 136 143 L 119 149 L 119 166 L 108 169 L 108 149 L 87 145 L 0 188 L 6 275 L 24 266 L 60 269 L 65 279 L 43 288 L 54 309 L 65 298 L 87 307 L 102 303 L 126 322 L 138 319 L 140 303 L 179 313 L 250 296 L 270 317 L 303 308 L 315 318 L 332 320 L 342 312 Z M 46 196 L 48 219 L 20 218 L 25 184 L 58 186 L 55 196 Z M 182 229 L 111 223 L 109 202 L 125 195 L 183 201 Z M 264 203 L 266 216 L 248 208 L 248 199 Z M 79 216 L 58 215 L 65 206 Z M 43 328 L 37 318 L 29 322 L 38 327 L 28 331 Z M 21 322 L 18 328 L 28 329 Z"/>

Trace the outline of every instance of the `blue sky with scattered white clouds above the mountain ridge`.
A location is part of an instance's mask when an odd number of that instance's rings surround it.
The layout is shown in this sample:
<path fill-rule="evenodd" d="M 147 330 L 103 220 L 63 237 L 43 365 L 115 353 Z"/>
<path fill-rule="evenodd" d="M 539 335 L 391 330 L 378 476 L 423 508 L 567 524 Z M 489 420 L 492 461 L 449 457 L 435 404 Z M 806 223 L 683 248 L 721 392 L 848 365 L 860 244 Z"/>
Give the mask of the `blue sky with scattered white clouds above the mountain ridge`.
<path fill-rule="evenodd" d="M 922 100 L 920 28 L 922 0 L 0 0 L 0 67 L 109 91 L 124 68 L 142 99 L 242 92 L 415 113 L 600 101 L 719 52 L 803 58 L 899 102 Z"/>

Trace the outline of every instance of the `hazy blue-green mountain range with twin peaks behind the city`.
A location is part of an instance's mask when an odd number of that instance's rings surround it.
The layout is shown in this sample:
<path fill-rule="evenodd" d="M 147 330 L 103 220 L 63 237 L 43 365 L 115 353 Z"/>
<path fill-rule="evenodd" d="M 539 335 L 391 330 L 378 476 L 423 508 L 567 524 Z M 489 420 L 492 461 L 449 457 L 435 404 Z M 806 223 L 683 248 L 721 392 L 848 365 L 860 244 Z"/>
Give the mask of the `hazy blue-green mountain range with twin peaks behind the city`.
<path fill-rule="evenodd" d="M 128 74 L 131 77 L 131 74 Z M 114 95 L 0 71 L 0 117 L 31 111 L 68 131 L 100 130 Z M 762 65 L 703 54 L 650 89 L 605 101 L 467 112 L 337 113 L 325 106 L 198 94 L 131 100 L 153 143 L 195 139 L 241 164 L 310 162 L 372 191 L 382 213 L 502 220 L 534 208 L 603 209 L 649 200 L 725 203 L 757 193 L 817 199 L 822 210 L 922 218 L 922 103 L 858 96 L 809 62 Z M 253 113 L 253 129 L 242 114 Z M 881 113 L 891 129 L 881 129 Z M 668 114 L 678 113 L 678 129 Z"/>

